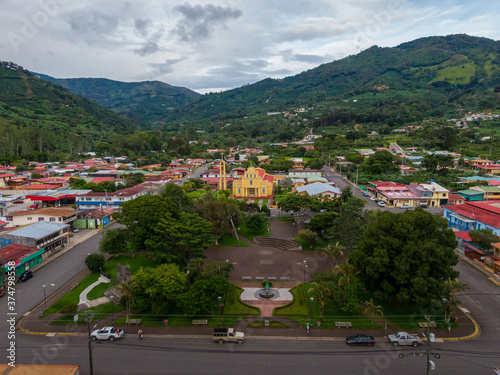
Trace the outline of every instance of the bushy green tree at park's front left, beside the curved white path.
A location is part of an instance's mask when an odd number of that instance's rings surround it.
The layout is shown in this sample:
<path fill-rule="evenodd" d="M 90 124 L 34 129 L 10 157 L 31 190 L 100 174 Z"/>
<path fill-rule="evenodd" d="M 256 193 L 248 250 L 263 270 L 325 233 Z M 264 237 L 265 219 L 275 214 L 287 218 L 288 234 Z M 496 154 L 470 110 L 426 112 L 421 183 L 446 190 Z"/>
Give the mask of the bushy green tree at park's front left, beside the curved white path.
<path fill-rule="evenodd" d="M 171 311 L 176 301 L 187 290 L 187 275 L 176 264 L 162 264 L 141 268 L 132 276 L 134 306 L 154 314 Z"/>

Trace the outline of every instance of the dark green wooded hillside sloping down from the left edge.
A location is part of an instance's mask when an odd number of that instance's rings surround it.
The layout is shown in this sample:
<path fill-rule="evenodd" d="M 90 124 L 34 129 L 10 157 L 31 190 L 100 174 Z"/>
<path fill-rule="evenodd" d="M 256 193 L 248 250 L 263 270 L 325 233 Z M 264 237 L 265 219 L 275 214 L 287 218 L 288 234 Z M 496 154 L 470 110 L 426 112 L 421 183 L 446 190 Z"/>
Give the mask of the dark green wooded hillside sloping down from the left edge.
<path fill-rule="evenodd" d="M 136 128 L 132 120 L 15 63 L 0 62 L 0 160 L 91 151 L 94 143 Z"/>

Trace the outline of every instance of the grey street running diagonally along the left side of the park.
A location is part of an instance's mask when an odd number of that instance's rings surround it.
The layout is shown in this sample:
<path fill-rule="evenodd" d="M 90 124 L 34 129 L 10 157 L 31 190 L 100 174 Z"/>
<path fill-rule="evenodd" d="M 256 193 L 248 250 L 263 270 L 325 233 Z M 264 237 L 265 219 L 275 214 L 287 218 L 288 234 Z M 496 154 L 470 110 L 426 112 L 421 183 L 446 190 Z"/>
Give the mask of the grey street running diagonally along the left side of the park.
<path fill-rule="evenodd" d="M 111 229 L 117 224 L 111 224 Z M 90 229 L 89 229 L 90 230 Z M 82 233 L 79 233 L 82 234 Z M 97 233 L 85 242 L 76 245 L 66 254 L 48 263 L 34 273 L 34 277 L 25 283 L 16 284 L 15 309 L 17 318 L 20 319 L 25 313 L 44 301 L 42 285 L 46 285 L 47 298 L 61 286 L 73 279 L 78 273 L 85 269 L 85 257 L 89 253 L 99 251 L 101 234 Z M 55 286 L 51 286 L 54 284 Z M 0 341 L 3 341 L 7 332 L 7 296 L 0 299 Z"/>

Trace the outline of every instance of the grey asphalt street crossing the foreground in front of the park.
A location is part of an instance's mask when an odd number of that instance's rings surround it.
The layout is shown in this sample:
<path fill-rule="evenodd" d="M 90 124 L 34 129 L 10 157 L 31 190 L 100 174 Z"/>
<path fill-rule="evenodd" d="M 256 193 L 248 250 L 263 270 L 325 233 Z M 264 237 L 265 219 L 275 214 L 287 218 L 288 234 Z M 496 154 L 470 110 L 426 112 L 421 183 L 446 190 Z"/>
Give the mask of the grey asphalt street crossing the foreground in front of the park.
<path fill-rule="evenodd" d="M 78 364 L 89 373 L 85 337 L 32 336 L 21 338 L 18 363 Z M 0 344 L 4 351 L 5 344 Z M 434 344 L 439 353 L 436 374 L 492 374 L 497 351 L 469 352 L 461 343 Z M 94 374 L 386 374 L 425 373 L 423 347 L 393 348 L 385 342 L 375 347 L 347 347 L 342 341 L 259 340 L 248 336 L 243 345 L 218 345 L 204 339 L 148 338 L 136 335 L 94 344 Z M 399 354 L 405 356 L 401 359 Z"/>

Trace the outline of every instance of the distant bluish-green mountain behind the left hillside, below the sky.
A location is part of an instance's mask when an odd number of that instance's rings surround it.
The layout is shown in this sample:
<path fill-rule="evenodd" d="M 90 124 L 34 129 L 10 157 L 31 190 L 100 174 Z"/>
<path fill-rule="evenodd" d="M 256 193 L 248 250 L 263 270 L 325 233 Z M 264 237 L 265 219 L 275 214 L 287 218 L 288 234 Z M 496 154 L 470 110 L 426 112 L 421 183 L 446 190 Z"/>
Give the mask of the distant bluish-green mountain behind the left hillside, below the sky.
<path fill-rule="evenodd" d="M 37 75 L 130 117 L 144 126 L 162 121 L 166 113 L 182 108 L 201 96 L 185 87 L 171 86 L 159 81 L 119 82 L 104 78 L 63 79 Z"/>

